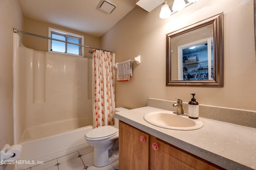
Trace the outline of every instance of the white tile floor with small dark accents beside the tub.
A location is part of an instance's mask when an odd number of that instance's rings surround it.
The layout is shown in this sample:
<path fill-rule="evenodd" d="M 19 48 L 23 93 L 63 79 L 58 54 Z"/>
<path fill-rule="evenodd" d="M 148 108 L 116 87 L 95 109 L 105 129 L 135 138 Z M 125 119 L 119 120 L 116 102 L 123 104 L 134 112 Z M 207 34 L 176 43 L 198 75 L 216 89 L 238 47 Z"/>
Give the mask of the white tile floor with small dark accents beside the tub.
<path fill-rule="evenodd" d="M 84 170 L 93 164 L 93 147 L 84 148 L 71 154 L 32 166 L 26 170 Z M 111 164 L 118 170 L 118 160 Z"/>

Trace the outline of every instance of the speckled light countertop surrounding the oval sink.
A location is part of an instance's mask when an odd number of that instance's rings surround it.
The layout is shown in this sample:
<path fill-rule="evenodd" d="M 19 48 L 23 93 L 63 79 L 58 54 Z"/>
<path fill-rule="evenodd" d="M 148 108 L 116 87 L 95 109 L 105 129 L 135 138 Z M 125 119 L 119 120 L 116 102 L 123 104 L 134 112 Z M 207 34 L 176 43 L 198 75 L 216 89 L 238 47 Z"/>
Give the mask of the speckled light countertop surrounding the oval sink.
<path fill-rule="evenodd" d="M 225 169 L 256 169 L 256 128 L 199 118 L 204 127 L 197 130 L 171 130 L 144 121 L 154 107 L 116 112 L 115 117 L 148 134 L 195 154 Z"/>

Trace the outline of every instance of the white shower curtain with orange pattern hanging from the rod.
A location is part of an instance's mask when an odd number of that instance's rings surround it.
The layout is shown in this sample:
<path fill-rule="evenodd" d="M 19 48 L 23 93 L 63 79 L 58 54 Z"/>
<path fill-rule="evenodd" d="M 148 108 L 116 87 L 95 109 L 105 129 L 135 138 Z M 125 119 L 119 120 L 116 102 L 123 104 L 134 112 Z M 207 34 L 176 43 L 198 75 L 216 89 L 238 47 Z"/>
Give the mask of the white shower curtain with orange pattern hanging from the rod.
<path fill-rule="evenodd" d="M 94 49 L 94 123 L 95 127 L 114 125 L 114 53 Z"/>

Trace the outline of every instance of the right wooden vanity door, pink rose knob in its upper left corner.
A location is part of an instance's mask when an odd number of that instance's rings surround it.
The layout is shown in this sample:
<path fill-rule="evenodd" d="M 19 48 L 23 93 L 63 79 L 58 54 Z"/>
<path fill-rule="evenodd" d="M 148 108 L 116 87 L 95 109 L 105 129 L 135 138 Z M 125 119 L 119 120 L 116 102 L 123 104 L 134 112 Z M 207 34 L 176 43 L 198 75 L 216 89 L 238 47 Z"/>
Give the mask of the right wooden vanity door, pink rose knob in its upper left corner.
<path fill-rule="evenodd" d="M 154 150 L 152 147 L 157 150 Z M 150 135 L 150 170 L 218 170 L 210 162 Z"/>

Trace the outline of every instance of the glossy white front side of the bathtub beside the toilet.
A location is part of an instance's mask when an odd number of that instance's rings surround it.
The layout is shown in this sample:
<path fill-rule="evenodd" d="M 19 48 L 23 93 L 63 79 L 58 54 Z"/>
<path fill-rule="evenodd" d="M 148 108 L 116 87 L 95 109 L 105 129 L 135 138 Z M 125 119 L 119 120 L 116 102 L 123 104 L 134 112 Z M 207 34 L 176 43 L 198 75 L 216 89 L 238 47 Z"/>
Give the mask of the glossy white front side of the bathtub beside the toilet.
<path fill-rule="evenodd" d="M 18 160 L 33 161 L 35 164 L 19 164 L 16 169 L 23 170 L 35 166 L 38 161 L 47 162 L 89 147 L 90 145 L 84 139 L 84 134 L 89 130 L 92 130 L 92 126 L 81 127 L 60 134 L 21 142 L 20 144 L 23 148 Z"/>

